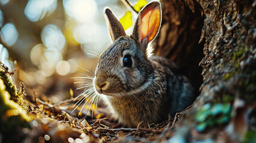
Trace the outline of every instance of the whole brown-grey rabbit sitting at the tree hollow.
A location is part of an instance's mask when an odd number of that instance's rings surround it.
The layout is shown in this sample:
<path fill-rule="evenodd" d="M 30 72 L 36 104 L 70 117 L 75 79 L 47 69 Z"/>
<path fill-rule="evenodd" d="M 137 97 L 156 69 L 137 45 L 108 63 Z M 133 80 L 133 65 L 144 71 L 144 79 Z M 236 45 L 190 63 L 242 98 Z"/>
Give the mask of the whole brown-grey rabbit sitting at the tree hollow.
<path fill-rule="evenodd" d="M 175 63 L 146 52 L 161 27 L 161 3 L 150 2 L 138 13 L 131 36 L 109 8 L 104 13 L 113 43 L 100 54 L 92 85 L 113 117 L 125 126 L 146 126 L 192 104 L 192 85 Z"/>

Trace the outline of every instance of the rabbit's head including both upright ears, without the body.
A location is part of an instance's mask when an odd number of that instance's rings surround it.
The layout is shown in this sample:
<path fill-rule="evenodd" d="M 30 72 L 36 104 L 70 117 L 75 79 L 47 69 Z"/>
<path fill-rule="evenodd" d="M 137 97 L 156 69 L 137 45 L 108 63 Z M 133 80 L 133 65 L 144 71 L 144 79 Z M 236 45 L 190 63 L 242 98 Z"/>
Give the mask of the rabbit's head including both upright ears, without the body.
<path fill-rule="evenodd" d="M 121 97 L 140 93 L 152 82 L 153 68 L 147 59 L 149 42 L 161 26 L 161 4 L 150 2 L 138 14 L 131 36 L 106 8 L 112 45 L 101 53 L 95 69 L 94 88 L 98 94 Z"/>

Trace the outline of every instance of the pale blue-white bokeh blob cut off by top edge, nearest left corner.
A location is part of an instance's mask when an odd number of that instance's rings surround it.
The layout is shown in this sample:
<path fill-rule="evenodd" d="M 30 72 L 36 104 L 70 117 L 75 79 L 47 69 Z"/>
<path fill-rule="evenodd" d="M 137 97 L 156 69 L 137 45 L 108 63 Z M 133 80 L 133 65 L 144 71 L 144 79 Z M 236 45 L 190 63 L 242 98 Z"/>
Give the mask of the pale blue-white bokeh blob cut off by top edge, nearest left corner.
<path fill-rule="evenodd" d="M 24 14 L 32 21 L 38 21 L 51 15 L 57 7 L 57 0 L 29 0 L 27 2 Z"/>

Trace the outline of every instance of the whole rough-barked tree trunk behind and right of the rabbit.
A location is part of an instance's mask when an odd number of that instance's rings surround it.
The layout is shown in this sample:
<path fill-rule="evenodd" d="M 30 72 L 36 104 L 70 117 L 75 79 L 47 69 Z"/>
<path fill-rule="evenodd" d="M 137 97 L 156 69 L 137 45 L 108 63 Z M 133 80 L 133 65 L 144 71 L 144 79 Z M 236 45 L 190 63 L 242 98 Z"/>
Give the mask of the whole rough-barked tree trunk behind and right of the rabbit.
<path fill-rule="evenodd" d="M 155 43 L 156 54 L 165 55 L 183 71 L 192 74 L 187 75 L 192 83 L 196 80 L 196 72 L 203 76 L 201 93 L 174 127 L 172 139 L 178 136 L 178 139 L 192 141 L 215 136 L 216 141 L 242 141 L 251 129 L 248 124 L 255 127 L 251 122 L 255 115 L 249 116 L 249 109 L 255 107 L 256 99 L 256 1 L 161 2 L 164 16 L 162 30 Z M 201 58 L 202 49 L 198 48 L 201 24 L 200 42 L 204 43 L 204 57 L 200 63 L 202 71 L 199 71 L 196 61 Z M 195 116 L 208 102 L 212 105 L 231 104 L 232 116 L 229 122 L 207 126 L 202 133 L 196 130 L 199 123 Z M 215 117 L 212 118 L 214 120 Z"/>

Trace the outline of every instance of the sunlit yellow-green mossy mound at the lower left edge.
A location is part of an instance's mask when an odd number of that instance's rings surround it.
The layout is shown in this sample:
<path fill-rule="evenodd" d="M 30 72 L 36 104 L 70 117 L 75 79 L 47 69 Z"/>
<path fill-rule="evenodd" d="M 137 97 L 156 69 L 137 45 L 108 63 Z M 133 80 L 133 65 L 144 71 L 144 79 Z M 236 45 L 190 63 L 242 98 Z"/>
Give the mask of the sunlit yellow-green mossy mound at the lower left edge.
<path fill-rule="evenodd" d="M 12 74 L 1 64 L 0 68 L 0 132 L 5 142 L 17 141 L 17 129 L 29 127 L 34 116 L 27 113 L 23 93 L 19 92 L 11 80 Z"/>

